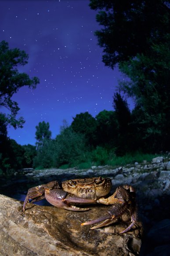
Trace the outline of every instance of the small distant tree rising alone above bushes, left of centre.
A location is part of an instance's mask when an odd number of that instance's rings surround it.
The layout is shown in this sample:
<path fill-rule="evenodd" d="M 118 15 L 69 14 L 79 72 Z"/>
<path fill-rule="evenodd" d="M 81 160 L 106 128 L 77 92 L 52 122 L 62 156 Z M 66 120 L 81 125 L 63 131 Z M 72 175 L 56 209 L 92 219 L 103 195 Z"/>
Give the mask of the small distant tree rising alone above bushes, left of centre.
<path fill-rule="evenodd" d="M 42 147 L 43 142 L 45 140 L 50 140 L 51 139 L 51 131 L 50 131 L 50 124 L 45 121 L 40 122 L 37 126 L 36 126 L 36 145 L 37 148 Z"/>

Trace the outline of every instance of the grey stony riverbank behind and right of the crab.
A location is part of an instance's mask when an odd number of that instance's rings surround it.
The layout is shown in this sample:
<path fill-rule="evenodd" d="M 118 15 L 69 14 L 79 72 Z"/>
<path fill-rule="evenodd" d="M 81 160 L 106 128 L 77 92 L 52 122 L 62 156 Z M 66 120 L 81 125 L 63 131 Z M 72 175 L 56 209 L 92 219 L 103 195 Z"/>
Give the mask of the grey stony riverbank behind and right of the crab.
<path fill-rule="evenodd" d="M 139 219 L 143 222 L 144 238 L 141 256 L 166 256 L 170 251 L 170 158 L 157 157 L 152 162 L 134 165 L 92 166 L 91 169 L 24 170 L 34 184 L 51 180 L 63 181 L 79 177 L 110 177 L 112 191 L 120 184 L 131 184 L 137 191 Z M 16 173 L 18 175 L 18 173 Z M 25 191 L 26 194 L 27 191 Z M 132 252 L 130 252 L 132 253 Z M 108 254 L 109 255 L 109 254 Z M 133 254 L 129 254 L 133 255 Z M 134 254 L 135 255 L 135 254 Z"/>

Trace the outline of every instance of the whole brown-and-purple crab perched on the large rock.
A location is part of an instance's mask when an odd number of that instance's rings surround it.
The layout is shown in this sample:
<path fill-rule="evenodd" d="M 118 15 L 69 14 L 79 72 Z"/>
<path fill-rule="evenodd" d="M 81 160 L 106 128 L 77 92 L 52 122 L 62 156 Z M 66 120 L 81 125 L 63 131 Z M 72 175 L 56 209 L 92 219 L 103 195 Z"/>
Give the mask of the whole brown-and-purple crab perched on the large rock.
<path fill-rule="evenodd" d="M 135 190 L 130 185 L 123 185 L 116 188 L 112 196 L 107 196 L 111 190 L 112 181 L 110 178 L 94 177 L 84 179 L 74 179 L 62 182 L 62 188 L 58 181 L 51 181 L 47 184 L 29 188 L 24 201 L 25 205 L 29 200 L 31 203 L 46 198 L 52 205 L 71 211 L 87 211 L 89 208 L 76 207 L 73 204 L 102 203 L 110 205 L 106 209 L 104 216 L 84 222 L 81 225 L 90 225 L 101 222 L 91 229 L 96 229 L 105 225 L 112 224 L 128 208 L 130 208 L 131 223 L 120 233 L 125 233 L 137 222 L 137 208 Z M 130 206 L 130 207 L 129 207 Z"/>

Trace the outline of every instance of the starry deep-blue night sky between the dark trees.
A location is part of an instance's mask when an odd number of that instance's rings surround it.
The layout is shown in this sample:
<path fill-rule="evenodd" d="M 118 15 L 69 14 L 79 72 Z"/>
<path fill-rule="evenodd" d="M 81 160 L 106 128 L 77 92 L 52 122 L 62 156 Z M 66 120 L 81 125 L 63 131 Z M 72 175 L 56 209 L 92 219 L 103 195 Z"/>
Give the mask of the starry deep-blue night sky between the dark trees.
<path fill-rule="evenodd" d="M 29 54 L 20 72 L 37 76 L 35 90 L 21 88 L 13 99 L 24 128 L 8 129 L 17 143 L 34 144 L 36 125 L 49 122 L 52 137 L 63 120 L 88 111 L 113 110 L 112 96 L 123 79 L 102 63 L 94 31 L 101 29 L 89 0 L 0 0 L 0 41 Z"/>

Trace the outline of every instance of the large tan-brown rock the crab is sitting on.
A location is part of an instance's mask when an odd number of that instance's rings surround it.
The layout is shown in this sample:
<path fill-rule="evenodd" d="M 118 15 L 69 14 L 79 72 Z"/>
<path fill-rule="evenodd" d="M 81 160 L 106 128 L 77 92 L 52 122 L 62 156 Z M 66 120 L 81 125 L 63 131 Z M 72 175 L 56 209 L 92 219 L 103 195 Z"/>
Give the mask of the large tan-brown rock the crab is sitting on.
<path fill-rule="evenodd" d="M 138 255 L 142 226 L 119 235 L 127 227 L 127 214 L 105 228 L 90 230 L 80 223 L 96 218 L 105 207 L 95 206 L 86 212 L 27 204 L 0 195 L 0 255 L 2 256 L 77 256 Z"/>

